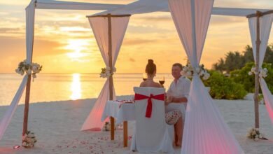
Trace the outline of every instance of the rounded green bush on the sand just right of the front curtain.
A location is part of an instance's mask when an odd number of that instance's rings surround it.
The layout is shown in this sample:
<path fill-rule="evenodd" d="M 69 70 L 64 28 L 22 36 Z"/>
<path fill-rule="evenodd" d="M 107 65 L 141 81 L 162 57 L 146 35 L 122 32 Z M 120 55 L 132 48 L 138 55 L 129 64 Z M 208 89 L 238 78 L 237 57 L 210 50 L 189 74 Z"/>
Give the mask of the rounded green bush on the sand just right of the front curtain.
<path fill-rule="evenodd" d="M 204 80 L 204 85 L 211 87 L 210 94 L 214 99 L 243 99 L 247 92 L 243 85 L 235 83 L 223 73 L 209 71 L 211 77 Z"/>

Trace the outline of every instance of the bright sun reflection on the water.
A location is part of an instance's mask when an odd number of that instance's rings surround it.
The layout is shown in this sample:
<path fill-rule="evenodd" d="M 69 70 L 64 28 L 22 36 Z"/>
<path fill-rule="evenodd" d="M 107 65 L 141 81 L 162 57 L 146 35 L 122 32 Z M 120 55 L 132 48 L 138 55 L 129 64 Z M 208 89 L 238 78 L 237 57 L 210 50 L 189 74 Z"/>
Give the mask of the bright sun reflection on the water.
<path fill-rule="evenodd" d="M 80 73 L 73 73 L 72 74 L 73 80 L 71 83 L 71 96 L 72 100 L 80 99 L 81 98 L 81 85 L 80 85 Z"/>

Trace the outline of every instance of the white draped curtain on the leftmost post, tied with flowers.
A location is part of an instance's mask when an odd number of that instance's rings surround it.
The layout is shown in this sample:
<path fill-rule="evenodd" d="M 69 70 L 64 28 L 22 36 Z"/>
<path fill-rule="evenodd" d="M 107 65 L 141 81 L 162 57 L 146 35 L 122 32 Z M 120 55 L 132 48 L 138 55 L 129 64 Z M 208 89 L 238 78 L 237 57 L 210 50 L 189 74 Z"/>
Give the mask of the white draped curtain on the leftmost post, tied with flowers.
<path fill-rule="evenodd" d="M 26 48 L 27 48 L 27 63 L 31 62 L 32 59 L 32 51 L 33 51 L 33 40 L 34 40 L 34 16 L 35 16 L 35 1 L 31 1 L 29 3 L 29 6 L 26 8 Z M 16 92 L 15 96 L 13 97 L 13 101 L 10 103 L 10 106 L 8 106 L 8 109 L 6 110 L 6 113 L 4 114 L 3 118 L 1 119 L 0 123 L 0 140 L 3 137 L 4 132 L 6 131 L 6 128 L 10 124 L 10 120 L 13 117 L 13 114 L 15 113 L 18 103 L 20 102 L 20 99 L 22 97 L 22 93 L 25 90 L 25 87 L 27 85 L 27 78 L 28 75 L 25 75 L 22 79 L 22 83 L 20 84 L 20 87 L 18 88 L 18 91 Z"/>

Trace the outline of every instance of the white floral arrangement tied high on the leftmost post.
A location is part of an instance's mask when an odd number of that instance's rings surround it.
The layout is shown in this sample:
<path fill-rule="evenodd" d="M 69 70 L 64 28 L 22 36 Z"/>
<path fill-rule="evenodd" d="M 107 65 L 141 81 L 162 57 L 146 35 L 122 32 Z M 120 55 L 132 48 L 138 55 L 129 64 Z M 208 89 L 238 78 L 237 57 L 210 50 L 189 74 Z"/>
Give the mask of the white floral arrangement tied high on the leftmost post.
<path fill-rule="evenodd" d="M 36 78 L 36 73 L 39 73 L 42 70 L 42 66 L 37 63 L 27 64 L 27 61 L 24 60 L 18 64 L 18 68 L 15 69 L 16 73 L 20 73 L 24 75 L 27 73 L 28 75 L 32 75 L 33 78 Z"/>

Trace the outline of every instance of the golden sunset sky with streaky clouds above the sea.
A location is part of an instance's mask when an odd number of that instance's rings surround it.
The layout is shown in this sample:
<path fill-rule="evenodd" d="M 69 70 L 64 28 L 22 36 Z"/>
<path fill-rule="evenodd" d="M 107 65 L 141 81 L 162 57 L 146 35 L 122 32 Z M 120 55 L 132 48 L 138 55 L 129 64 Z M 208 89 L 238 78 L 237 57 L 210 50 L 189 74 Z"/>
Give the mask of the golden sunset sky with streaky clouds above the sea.
<path fill-rule="evenodd" d="M 25 7 L 30 0 L 0 0 L 0 73 L 15 73 L 26 57 Z M 66 0 L 71 1 L 71 0 Z M 130 3 L 133 0 L 73 0 L 92 3 Z M 214 7 L 273 9 L 272 0 L 215 0 Z M 102 55 L 85 18 L 94 10 L 36 10 L 33 62 L 42 73 L 99 73 Z M 269 44 L 273 43 L 273 29 Z M 244 17 L 213 15 L 201 63 L 212 64 L 229 51 L 242 52 L 251 45 L 248 21 Z M 132 15 L 116 62 L 117 73 L 144 73 L 148 59 L 154 59 L 158 73 L 169 73 L 172 64 L 186 64 L 170 13 Z"/>

